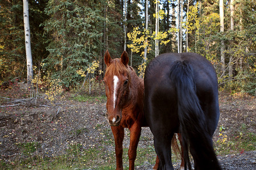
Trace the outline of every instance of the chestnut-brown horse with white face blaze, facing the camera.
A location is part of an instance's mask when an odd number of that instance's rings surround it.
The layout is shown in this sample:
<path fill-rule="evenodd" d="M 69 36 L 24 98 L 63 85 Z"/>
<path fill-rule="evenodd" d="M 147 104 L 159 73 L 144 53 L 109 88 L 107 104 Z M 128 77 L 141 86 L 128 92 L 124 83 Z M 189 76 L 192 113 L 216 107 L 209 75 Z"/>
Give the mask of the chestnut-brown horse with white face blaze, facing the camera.
<path fill-rule="evenodd" d="M 123 138 L 124 128 L 130 130 L 129 169 L 134 169 L 137 146 L 141 136 L 141 128 L 147 127 L 143 112 L 144 83 L 134 69 L 128 66 L 129 57 L 123 52 L 121 58 L 112 59 L 108 50 L 105 53 L 106 72 L 104 77 L 107 96 L 106 119 L 111 126 L 115 140 L 115 156 L 117 169 L 123 169 Z M 175 138 L 176 139 L 176 138 Z M 175 144 L 175 141 L 174 141 Z M 176 145 L 172 144 L 172 146 Z M 158 168 L 156 158 L 154 169 Z M 184 166 L 182 161 L 181 167 Z"/>

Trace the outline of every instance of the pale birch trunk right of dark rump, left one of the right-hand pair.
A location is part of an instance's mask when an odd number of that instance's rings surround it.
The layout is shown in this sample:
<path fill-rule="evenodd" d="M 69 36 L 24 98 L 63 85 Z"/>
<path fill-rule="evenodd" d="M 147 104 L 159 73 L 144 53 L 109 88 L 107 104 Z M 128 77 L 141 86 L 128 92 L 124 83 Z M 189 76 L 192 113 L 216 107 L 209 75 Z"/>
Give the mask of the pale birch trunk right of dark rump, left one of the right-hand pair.
<path fill-rule="evenodd" d="M 224 33 L 224 8 L 223 8 L 223 0 L 220 0 L 220 32 Z M 221 64 L 222 71 L 225 71 L 225 44 L 224 40 L 221 40 Z"/>

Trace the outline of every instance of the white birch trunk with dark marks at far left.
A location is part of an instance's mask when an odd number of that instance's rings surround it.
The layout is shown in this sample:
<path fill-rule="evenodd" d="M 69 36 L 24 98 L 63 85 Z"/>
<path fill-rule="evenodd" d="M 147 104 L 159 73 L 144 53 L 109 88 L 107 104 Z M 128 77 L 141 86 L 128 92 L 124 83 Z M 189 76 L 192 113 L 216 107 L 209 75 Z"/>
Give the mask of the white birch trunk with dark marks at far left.
<path fill-rule="evenodd" d="M 25 33 L 26 59 L 27 59 L 27 84 L 31 88 L 33 79 L 32 53 L 30 43 L 30 20 L 28 16 L 28 0 L 23 0 L 23 21 Z"/>

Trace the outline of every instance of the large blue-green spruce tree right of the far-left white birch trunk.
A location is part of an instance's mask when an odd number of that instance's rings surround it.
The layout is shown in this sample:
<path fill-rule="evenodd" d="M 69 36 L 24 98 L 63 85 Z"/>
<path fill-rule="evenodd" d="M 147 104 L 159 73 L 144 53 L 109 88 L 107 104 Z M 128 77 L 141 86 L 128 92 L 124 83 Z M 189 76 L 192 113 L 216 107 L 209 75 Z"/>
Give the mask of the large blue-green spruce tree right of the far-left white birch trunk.
<path fill-rule="evenodd" d="M 76 70 L 87 69 L 97 56 L 102 33 L 97 26 L 102 22 L 100 11 L 85 6 L 83 1 L 49 1 L 45 12 L 51 16 L 44 29 L 52 39 L 44 60 L 44 68 L 52 71 L 53 78 L 61 79 L 64 86 L 80 82 Z"/>

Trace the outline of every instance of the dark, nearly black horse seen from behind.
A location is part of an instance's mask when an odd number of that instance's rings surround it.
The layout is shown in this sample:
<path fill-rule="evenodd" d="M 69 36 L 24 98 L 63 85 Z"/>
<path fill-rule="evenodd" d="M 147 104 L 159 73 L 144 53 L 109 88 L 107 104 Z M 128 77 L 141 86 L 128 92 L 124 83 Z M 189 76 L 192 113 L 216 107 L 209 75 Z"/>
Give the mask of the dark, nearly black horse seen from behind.
<path fill-rule="evenodd" d="M 195 53 L 166 53 L 149 63 L 144 76 L 144 113 L 154 135 L 158 169 L 174 169 L 170 142 L 181 133 L 185 169 L 221 169 L 212 146 L 220 111 L 212 64 Z"/>

